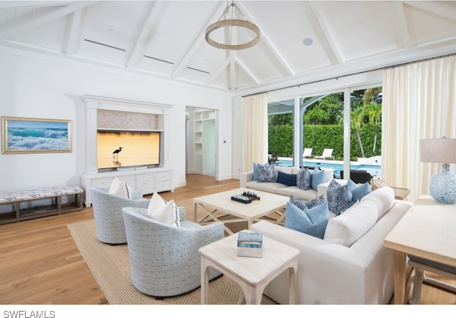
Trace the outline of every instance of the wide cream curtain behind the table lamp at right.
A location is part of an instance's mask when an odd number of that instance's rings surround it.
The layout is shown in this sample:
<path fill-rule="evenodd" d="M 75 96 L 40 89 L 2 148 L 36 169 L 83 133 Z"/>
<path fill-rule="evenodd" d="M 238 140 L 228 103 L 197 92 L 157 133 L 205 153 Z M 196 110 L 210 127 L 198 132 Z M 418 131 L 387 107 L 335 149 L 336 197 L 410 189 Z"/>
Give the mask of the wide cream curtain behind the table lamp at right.
<path fill-rule="evenodd" d="M 428 195 L 431 175 L 442 169 L 420 162 L 420 139 L 456 138 L 455 88 L 456 56 L 383 74 L 382 175 L 387 185 L 410 189 L 407 200 Z"/>

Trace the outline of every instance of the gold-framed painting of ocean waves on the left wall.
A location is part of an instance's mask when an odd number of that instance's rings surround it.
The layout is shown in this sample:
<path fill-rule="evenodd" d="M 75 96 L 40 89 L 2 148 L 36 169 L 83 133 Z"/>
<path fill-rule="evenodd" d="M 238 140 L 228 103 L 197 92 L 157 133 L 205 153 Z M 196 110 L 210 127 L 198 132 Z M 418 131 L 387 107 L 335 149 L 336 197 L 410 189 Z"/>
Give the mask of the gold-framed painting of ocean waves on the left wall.
<path fill-rule="evenodd" d="M 71 120 L 1 117 L 1 153 L 71 153 Z"/>

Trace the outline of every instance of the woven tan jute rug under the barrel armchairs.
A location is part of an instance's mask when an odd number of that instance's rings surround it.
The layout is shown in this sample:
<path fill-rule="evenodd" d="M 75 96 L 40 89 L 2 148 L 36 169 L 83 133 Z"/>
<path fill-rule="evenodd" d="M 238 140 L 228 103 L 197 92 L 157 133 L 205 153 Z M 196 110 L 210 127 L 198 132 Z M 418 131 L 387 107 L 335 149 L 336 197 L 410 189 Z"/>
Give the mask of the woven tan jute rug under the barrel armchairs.
<path fill-rule="evenodd" d="M 192 202 L 191 199 L 177 202 L 187 207 L 188 220 L 193 220 Z M 127 245 L 111 246 L 98 241 L 93 220 L 68 225 L 68 229 L 109 304 L 201 304 L 200 288 L 165 299 L 138 292 L 130 279 Z M 209 282 L 209 304 L 236 304 L 241 295 L 242 290 L 226 275 Z M 263 295 L 261 304 L 276 302 Z"/>

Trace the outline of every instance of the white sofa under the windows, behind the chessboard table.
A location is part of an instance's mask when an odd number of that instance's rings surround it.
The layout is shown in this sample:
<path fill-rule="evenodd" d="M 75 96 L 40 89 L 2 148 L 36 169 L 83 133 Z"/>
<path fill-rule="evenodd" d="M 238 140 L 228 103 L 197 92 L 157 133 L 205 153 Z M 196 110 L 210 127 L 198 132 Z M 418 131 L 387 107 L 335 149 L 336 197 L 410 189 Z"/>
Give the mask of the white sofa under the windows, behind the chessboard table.
<path fill-rule="evenodd" d="M 333 180 L 333 170 L 332 169 L 323 169 L 326 173 L 326 182 Z M 277 180 L 279 171 L 283 173 L 291 173 L 296 175 L 299 171 L 299 168 L 294 167 L 283 167 L 283 166 L 274 166 L 274 177 Z M 310 170 L 311 173 L 314 170 Z M 250 188 L 253 190 L 265 191 L 269 193 L 275 193 L 278 195 L 285 195 L 289 197 L 290 195 L 294 195 L 295 197 L 301 198 L 303 200 L 312 200 L 316 198 L 318 195 L 322 195 L 323 193 L 319 194 L 317 190 L 309 189 L 309 190 L 301 190 L 296 185 L 284 185 L 282 183 L 268 183 L 268 182 L 258 182 L 254 179 L 254 173 L 242 173 L 240 177 L 240 185 L 241 188 Z"/>

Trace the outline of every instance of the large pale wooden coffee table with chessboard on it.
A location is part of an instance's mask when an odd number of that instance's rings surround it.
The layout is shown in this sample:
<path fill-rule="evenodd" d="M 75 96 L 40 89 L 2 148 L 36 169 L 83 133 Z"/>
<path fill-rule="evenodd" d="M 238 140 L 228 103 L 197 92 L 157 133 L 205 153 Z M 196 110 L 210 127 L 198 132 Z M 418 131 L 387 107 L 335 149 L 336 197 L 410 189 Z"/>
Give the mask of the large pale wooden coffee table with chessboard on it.
<path fill-rule="evenodd" d="M 239 195 L 244 193 L 244 191 L 255 193 L 260 197 L 260 200 L 254 200 L 252 203 L 248 204 L 231 200 L 232 195 Z M 204 223 L 208 220 L 220 221 L 225 224 L 247 221 L 248 228 L 250 228 L 254 221 L 259 220 L 261 217 L 279 224 L 284 221 L 284 209 L 286 207 L 286 202 L 288 201 L 289 198 L 284 195 L 275 195 L 274 193 L 239 188 L 194 198 L 193 216 L 195 222 L 198 223 Z M 200 220 L 197 220 L 197 207 L 201 207 L 202 211 L 205 213 L 204 217 Z M 222 214 L 217 214 L 217 211 L 222 212 Z M 276 212 L 276 218 L 270 216 L 272 212 Z M 229 230 L 227 226 L 225 226 L 225 231 L 229 234 L 233 234 L 232 230 Z"/>

